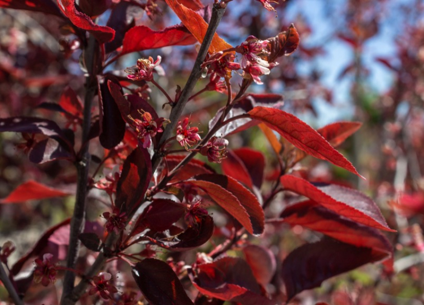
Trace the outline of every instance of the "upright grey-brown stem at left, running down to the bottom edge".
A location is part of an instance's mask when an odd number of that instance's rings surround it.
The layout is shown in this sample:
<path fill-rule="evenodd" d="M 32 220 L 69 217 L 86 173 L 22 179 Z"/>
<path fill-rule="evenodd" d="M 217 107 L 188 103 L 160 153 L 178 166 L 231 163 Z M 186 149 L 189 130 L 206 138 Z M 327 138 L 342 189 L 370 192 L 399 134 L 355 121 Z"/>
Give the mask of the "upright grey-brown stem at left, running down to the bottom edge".
<path fill-rule="evenodd" d="M 96 92 L 96 69 L 97 69 L 97 55 L 98 43 L 93 36 L 90 36 L 88 45 L 84 50 L 85 66 L 88 75 L 85 79 L 85 97 L 84 97 L 84 119 L 82 124 L 82 139 L 81 149 L 78 158 L 75 162 L 77 168 L 77 190 L 75 198 L 75 207 L 70 224 L 69 232 L 69 248 L 66 257 L 66 267 L 75 269 L 75 263 L 78 258 L 80 242 L 78 235 L 83 231 L 85 224 L 85 199 L 87 197 L 87 183 L 88 183 L 88 169 L 90 165 L 89 148 L 89 132 L 91 127 L 91 106 Z M 63 279 L 63 294 L 61 304 L 68 296 L 73 288 L 75 282 L 75 274 L 67 270 Z"/>

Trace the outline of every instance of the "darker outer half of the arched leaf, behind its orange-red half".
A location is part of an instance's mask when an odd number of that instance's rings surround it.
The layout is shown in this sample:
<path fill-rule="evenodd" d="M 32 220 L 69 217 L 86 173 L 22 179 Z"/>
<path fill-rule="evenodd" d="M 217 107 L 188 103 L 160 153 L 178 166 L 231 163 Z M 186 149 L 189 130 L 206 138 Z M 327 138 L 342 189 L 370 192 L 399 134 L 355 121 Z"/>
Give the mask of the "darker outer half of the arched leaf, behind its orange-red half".
<path fill-rule="evenodd" d="M 262 234 L 265 226 L 265 216 L 256 196 L 253 195 L 247 188 L 238 183 L 235 179 L 219 174 L 198 175 L 195 177 L 195 179 L 212 182 L 234 195 L 250 217 L 253 233 L 251 233 L 249 230 L 247 231 L 249 231 L 250 234 Z M 223 208 L 226 210 L 225 207 Z"/>

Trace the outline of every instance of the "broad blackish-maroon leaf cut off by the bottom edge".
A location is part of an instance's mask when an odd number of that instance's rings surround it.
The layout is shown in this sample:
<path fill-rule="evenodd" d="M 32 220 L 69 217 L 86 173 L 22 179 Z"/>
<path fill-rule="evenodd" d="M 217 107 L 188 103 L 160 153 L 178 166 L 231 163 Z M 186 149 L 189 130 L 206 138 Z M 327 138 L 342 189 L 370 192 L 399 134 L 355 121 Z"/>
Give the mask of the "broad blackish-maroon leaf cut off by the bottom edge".
<path fill-rule="evenodd" d="M 150 304 L 194 305 L 167 263 L 153 258 L 144 259 L 132 268 L 132 274 Z"/>

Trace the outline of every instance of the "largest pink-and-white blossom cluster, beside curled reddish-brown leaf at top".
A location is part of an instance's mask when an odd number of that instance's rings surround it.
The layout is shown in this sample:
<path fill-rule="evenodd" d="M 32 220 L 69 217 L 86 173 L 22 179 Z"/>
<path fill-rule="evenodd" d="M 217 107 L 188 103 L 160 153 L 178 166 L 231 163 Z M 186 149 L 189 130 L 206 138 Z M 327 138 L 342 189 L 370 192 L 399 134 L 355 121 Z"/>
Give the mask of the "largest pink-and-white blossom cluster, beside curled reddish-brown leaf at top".
<path fill-rule="evenodd" d="M 259 76 L 269 74 L 270 69 L 277 65 L 277 63 L 269 63 L 265 60 L 269 54 L 268 44 L 268 40 L 259 40 L 255 36 L 249 36 L 235 48 L 237 53 L 242 54 L 243 77 L 251 77 L 259 85 L 262 84 Z"/>

